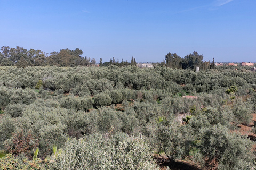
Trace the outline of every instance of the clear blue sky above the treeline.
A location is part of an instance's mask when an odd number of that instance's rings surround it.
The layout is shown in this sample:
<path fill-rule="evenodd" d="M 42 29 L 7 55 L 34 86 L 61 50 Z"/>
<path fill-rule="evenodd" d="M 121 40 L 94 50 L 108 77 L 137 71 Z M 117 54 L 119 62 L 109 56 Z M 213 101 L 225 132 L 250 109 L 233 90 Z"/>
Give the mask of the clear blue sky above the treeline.
<path fill-rule="evenodd" d="M 99 62 L 256 62 L 255 0 L 0 0 L 0 46 L 83 50 Z"/>

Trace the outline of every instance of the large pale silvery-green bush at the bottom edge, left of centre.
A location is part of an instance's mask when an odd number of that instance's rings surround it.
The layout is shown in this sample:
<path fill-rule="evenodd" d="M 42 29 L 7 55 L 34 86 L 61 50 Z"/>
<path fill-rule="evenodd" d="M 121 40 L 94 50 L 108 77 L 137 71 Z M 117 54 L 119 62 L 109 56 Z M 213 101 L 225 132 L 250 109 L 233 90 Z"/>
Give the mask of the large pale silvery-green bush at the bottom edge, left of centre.
<path fill-rule="evenodd" d="M 113 138 L 101 134 L 71 139 L 49 161 L 50 169 L 159 169 L 150 146 L 140 137 L 123 133 Z"/>

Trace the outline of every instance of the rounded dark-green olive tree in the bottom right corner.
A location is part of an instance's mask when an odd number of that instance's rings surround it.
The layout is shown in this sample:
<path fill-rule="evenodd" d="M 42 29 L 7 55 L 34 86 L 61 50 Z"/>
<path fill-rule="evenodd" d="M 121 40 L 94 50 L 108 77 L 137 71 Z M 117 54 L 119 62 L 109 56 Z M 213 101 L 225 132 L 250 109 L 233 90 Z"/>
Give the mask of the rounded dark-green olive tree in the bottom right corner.
<path fill-rule="evenodd" d="M 208 162 L 216 159 L 218 169 L 255 169 L 253 142 L 247 137 L 230 133 L 220 124 L 202 129 L 199 148 Z"/>

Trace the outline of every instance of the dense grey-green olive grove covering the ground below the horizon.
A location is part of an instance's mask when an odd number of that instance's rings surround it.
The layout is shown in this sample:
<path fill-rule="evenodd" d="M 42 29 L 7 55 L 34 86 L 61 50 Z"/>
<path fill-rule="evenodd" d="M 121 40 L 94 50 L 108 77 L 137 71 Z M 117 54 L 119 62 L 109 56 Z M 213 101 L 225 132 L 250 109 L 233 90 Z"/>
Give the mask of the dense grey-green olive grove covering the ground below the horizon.
<path fill-rule="evenodd" d="M 253 169 L 254 142 L 234 129 L 252 119 L 255 80 L 242 67 L 1 66 L 0 167 L 157 169 L 155 152 Z"/>

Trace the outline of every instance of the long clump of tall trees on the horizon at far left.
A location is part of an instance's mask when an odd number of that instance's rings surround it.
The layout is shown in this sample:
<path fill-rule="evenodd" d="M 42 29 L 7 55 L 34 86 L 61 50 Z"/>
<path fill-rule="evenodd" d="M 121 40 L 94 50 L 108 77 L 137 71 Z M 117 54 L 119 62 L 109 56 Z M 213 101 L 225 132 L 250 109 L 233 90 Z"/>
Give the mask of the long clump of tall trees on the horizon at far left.
<path fill-rule="evenodd" d="M 61 49 L 60 52 L 47 53 L 41 50 L 30 49 L 16 46 L 2 46 L 0 53 L 0 65 L 27 67 L 27 66 L 90 66 L 96 63 L 94 58 L 82 57 L 83 51 L 79 48 L 70 50 Z"/>

